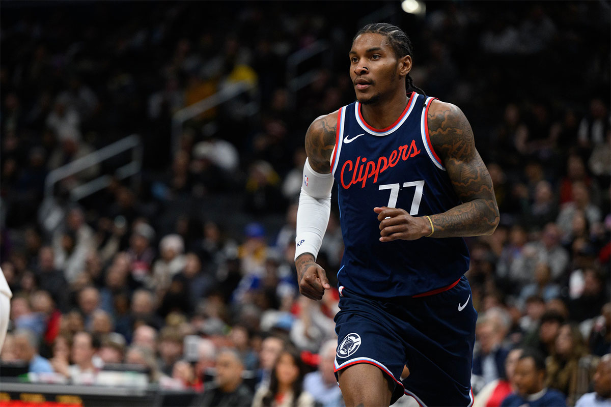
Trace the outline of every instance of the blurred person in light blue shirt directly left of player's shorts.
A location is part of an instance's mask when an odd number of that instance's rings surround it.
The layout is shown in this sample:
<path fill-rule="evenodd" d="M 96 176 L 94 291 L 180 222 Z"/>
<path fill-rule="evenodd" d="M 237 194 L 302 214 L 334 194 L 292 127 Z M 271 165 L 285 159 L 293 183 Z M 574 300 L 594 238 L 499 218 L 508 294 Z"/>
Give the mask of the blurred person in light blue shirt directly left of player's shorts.
<path fill-rule="evenodd" d="M 343 405 L 342 391 L 335 378 L 335 352 L 337 339 L 329 339 L 320 347 L 318 370 L 304 376 L 304 391 L 312 394 L 316 405 L 338 407 Z"/>

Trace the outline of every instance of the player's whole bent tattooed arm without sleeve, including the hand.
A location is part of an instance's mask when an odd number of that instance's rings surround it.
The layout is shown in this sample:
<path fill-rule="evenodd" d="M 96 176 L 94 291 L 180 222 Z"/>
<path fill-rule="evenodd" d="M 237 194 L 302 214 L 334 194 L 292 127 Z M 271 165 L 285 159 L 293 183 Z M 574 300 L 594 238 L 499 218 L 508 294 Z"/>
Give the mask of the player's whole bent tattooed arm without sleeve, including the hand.
<path fill-rule="evenodd" d="M 499 224 L 499 208 L 488 169 L 475 149 L 469 121 L 458 107 L 437 100 L 431 103 L 427 120 L 433 148 L 463 203 L 430 215 L 430 222 L 426 217 L 412 217 L 404 209 L 376 207 L 373 211 L 380 221 L 380 241 L 492 234 Z"/>

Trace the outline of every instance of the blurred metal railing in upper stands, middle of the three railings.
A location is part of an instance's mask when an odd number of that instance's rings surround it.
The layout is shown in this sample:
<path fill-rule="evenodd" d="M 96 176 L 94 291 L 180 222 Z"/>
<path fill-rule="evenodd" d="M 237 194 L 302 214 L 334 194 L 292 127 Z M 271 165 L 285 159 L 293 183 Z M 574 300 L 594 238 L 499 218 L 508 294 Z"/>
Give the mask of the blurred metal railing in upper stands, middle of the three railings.
<path fill-rule="evenodd" d="M 183 107 L 183 109 L 180 109 L 174 113 L 174 115 L 172 115 L 172 154 L 176 153 L 178 146 L 180 145 L 180 135 L 182 134 L 183 124 L 185 121 L 200 115 L 206 110 L 213 109 L 213 107 L 228 102 L 231 99 L 240 96 L 242 93 L 255 90 L 255 88 L 257 88 L 257 84 L 252 82 L 236 82 L 235 84 L 230 84 L 223 87 L 221 90 L 214 93 L 214 95 L 208 96 L 207 98 L 202 99 L 190 106 Z M 247 110 L 249 111 L 243 112 L 244 114 L 252 116 L 258 112 L 257 103 L 251 103 L 247 106 Z"/>

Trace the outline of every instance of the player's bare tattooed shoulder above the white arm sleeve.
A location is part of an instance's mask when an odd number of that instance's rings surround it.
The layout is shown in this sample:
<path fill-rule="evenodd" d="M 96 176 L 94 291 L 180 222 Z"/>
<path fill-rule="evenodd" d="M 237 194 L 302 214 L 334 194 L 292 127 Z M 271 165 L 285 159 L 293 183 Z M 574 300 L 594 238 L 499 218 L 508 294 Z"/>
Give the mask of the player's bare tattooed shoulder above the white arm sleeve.
<path fill-rule="evenodd" d="M 335 146 L 337 114 L 333 112 L 316 118 L 305 133 L 305 152 L 312 169 L 324 174 L 331 172 L 331 153 Z"/>

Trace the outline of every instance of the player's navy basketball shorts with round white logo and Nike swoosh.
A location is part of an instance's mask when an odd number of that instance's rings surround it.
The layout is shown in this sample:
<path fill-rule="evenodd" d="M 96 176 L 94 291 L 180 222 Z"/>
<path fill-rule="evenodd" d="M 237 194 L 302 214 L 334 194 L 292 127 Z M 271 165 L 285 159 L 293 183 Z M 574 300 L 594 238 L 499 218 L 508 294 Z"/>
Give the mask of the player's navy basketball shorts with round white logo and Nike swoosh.
<path fill-rule="evenodd" d="M 368 363 L 395 384 L 391 404 L 402 395 L 420 406 L 471 406 L 471 364 L 477 312 L 461 277 L 451 289 L 425 297 L 373 299 L 343 287 L 335 376 Z M 409 376 L 401 381 L 403 366 Z"/>

